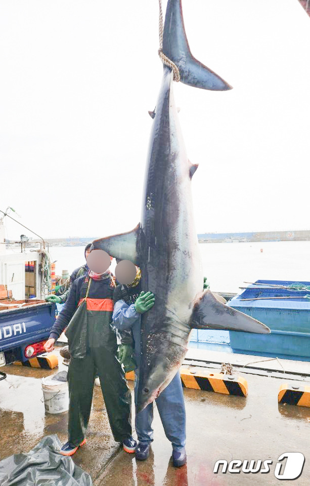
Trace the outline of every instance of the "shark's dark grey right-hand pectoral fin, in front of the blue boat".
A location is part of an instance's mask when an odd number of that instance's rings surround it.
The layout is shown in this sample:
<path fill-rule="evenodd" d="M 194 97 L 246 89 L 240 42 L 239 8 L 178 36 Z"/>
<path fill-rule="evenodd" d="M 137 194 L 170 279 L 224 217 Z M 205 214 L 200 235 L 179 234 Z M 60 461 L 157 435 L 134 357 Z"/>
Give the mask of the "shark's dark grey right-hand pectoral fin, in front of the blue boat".
<path fill-rule="evenodd" d="M 269 334 L 270 329 L 253 317 L 219 302 L 209 290 L 198 294 L 190 321 L 193 329 L 220 329 Z"/>

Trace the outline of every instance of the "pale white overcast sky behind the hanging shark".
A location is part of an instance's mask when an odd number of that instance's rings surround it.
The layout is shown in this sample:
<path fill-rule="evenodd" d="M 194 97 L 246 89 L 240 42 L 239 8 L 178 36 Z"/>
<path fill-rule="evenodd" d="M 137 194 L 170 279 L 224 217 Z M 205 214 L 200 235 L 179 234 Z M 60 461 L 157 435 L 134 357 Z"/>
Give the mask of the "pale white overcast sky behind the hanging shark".
<path fill-rule="evenodd" d="M 174 83 L 197 232 L 308 229 L 310 18 L 297 0 L 183 12 L 193 55 L 234 88 Z M 45 237 L 137 225 L 157 49 L 157 0 L 0 2 L 1 210 Z"/>

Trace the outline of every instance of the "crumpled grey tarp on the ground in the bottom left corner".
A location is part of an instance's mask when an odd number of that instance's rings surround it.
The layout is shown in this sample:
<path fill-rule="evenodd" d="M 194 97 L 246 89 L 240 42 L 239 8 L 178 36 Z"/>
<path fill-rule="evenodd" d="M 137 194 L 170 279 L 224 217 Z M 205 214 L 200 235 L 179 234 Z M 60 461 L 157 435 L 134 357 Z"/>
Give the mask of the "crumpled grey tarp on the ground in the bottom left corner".
<path fill-rule="evenodd" d="M 27 454 L 0 461 L 1 486 L 92 486 L 91 476 L 59 452 L 57 435 L 47 435 Z"/>

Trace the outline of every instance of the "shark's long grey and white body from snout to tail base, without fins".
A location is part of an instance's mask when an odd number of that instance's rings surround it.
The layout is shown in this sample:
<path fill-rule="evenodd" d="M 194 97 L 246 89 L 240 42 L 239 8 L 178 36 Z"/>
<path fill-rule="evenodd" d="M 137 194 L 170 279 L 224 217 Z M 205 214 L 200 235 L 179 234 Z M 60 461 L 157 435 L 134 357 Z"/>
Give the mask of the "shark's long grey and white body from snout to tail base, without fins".
<path fill-rule="evenodd" d="M 190 163 L 170 88 L 171 72 L 165 68 L 141 219 L 142 287 L 156 298 L 156 305 L 141 321 L 138 402 L 142 400 L 144 406 L 168 385 L 185 357 L 193 301 L 203 287 Z"/>

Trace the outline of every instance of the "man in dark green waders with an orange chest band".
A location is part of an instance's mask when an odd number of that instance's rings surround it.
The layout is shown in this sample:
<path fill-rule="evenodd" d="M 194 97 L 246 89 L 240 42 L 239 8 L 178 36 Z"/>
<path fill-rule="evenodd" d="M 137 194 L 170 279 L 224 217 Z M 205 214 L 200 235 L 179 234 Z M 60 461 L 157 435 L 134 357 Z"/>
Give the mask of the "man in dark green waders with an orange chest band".
<path fill-rule="evenodd" d="M 111 263 L 105 253 L 97 266 L 90 257 L 97 256 L 94 250 L 87 259 L 88 267 L 98 272 Z M 94 255 L 93 255 L 94 254 Z M 125 452 L 134 453 L 136 441 L 131 436 L 131 394 L 124 372 L 118 361 L 116 335 L 111 327 L 113 312 L 114 279 L 109 270 L 77 278 L 71 287 L 66 304 L 52 328 L 45 344 L 47 352 L 67 327 L 71 360 L 68 370 L 69 421 L 68 442 L 61 454 L 71 456 L 85 443 L 85 431 L 90 418 L 96 370 L 109 417 L 113 437 L 123 443 Z"/>

